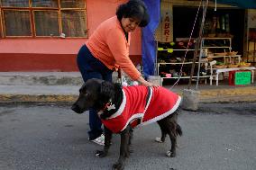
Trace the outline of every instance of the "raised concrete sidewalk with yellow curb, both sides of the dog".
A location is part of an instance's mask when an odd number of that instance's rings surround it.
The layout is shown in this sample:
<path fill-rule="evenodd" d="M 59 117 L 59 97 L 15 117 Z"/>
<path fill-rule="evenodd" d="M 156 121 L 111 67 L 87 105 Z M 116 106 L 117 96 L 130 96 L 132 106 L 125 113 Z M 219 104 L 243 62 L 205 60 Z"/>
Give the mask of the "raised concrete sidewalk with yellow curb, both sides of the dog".
<path fill-rule="evenodd" d="M 83 84 L 78 72 L 0 72 L 0 103 L 74 102 Z M 181 94 L 187 85 L 164 85 Z M 195 89 L 192 85 L 191 89 Z M 256 84 L 233 86 L 199 84 L 200 103 L 256 102 Z"/>

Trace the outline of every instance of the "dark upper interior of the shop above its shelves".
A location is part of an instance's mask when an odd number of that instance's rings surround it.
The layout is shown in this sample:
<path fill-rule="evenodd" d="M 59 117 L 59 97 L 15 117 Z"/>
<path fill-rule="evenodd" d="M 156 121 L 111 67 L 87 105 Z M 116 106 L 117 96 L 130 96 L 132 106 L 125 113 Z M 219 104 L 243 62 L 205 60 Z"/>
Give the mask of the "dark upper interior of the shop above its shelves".
<path fill-rule="evenodd" d="M 197 38 L 202 11 L 198 13 L 198 20 L 192 37 Z M 173 6 L 173 40 L 188 38 L 193 28 L 197 14 L 197 7 Z M 232 50 L 243 53 L 244 38 L 244 9 L 230 9 L 208 7 L 204 28 L 204 37 L 232 38 Z M 241 24 L 242 23 L 242 24 Z"/>

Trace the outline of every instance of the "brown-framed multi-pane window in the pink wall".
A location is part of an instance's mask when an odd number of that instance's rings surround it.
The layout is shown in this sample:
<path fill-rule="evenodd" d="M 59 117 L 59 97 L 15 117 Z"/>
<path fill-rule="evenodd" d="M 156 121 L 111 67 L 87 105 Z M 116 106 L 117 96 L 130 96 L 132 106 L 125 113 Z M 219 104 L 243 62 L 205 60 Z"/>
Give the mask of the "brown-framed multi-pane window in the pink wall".
<path fill-rule="evenodd" d="M 0 0 L 0 37 L 87 37 L 85 1 Z"/>

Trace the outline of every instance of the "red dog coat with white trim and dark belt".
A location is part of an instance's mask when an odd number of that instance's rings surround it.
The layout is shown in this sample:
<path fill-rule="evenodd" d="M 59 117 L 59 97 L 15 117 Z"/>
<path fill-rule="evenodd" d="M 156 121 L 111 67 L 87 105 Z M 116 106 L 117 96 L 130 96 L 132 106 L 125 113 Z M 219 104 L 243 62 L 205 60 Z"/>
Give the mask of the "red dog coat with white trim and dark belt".
<path fill-rule="evenodd" d="M 147 96 L 149 96 L 148 100 Z M 134 128 L 139 124 L 160 121 L 175 112 L 180 101 L 181 97 L 178 94 L 161 86 L 150 88 L 150 90 L 144 85 L 124 86 L 123 102 L 118 111 L 101 121 L 108 130 L 118 133 L 129 123 Z"/>

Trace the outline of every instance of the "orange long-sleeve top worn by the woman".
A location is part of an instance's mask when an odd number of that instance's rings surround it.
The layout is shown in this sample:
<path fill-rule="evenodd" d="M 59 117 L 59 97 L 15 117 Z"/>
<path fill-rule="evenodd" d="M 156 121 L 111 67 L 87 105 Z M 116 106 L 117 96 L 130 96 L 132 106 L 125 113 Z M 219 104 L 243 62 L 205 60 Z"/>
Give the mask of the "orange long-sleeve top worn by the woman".
<path fill-rule="evenodd" d="M 86 45 L 93 56 L 104 63 L 106 67 L 111 70 L 121 67 L 128 76 L 136 80 L 141 73 L 129 58 L 130 40 L 130 33 L 126 40 L 121 23 L 114 16 L 96 28 Z"/>

